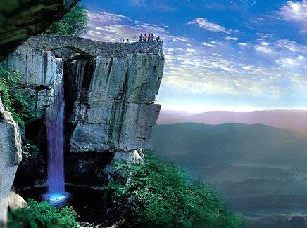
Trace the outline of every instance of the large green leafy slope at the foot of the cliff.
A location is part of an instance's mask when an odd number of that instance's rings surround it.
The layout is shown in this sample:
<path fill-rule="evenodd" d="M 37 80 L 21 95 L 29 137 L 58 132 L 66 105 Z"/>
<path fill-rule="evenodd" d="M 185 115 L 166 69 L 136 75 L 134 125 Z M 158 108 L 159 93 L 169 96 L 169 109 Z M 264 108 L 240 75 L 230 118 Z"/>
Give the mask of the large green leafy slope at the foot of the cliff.
<path fill-rule="evenodd" d="M 147 154 L 144 163 L 114 163 L 119 175 L 108 188 L 130 227 L 237 228 L 242 220 L 201 182 L 189 183 L 181 170 Z"/>

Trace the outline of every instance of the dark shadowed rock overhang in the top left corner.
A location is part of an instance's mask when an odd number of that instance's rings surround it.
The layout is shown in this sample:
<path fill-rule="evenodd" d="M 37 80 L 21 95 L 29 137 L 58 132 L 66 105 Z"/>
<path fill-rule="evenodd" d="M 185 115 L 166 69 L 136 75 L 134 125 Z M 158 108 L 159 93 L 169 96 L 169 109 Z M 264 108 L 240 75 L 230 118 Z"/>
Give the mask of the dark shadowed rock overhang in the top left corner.
<path fill-rule="evenodd" d="M 79 0 L 0 1 L 0 62 L 32 35 L 44 32 Z"/>

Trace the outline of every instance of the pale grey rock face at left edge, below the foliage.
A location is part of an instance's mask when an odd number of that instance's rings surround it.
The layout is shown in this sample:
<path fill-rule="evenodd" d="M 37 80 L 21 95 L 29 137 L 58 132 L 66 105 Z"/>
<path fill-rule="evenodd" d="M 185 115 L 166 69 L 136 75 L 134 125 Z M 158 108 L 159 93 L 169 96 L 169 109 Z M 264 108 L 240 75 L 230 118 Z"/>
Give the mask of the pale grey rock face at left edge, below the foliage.
<path fill-rule="evenodd" d="M 6 223 L 8 194 L 21 161 L 19 128 L 11 113 L 4 110 L 0 98 L 0 227 Z"/>

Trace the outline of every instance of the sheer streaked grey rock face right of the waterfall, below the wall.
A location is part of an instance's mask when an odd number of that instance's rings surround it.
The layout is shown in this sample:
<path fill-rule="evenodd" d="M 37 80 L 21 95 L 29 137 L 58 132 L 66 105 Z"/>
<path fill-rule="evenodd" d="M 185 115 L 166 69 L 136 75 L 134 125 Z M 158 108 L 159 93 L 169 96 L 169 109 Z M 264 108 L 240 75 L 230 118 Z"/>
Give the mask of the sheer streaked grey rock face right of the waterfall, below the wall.
<path fill-rule="evenodd" d="M 163 75 L 163 55 L 132 53 L 65 63 L 66 93 L 75 126 L 72 152 L 147 148 L 160 105 L 154 104 Z M 73 85 L 73 86 L 71 86 Z"/>

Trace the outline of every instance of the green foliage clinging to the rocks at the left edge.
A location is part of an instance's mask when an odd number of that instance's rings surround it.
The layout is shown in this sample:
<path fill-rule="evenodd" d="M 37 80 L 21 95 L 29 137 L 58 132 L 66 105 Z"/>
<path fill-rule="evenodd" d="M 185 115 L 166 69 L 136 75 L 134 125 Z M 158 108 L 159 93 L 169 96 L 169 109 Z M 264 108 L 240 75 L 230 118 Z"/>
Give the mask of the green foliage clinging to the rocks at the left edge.
<path fill-rule="evenodd" d="M 26 121 L 37 117 L 38 112 L 34 109 L 35 98 L 26 90 L 16 87 L 20 79 L 20 72 L 0 69 L 0 95 L 3 105 L 13 114 L 15 122 L 23 126 Z"/>

